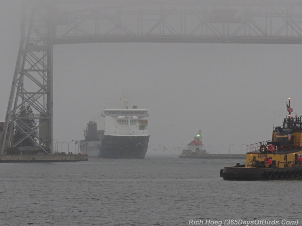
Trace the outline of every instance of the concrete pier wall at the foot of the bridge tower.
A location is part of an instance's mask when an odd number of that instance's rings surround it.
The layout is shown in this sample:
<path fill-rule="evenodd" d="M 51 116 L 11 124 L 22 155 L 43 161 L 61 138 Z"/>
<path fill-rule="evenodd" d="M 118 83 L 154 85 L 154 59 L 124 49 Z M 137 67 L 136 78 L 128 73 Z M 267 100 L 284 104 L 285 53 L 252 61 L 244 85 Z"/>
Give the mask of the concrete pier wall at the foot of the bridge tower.
<path fill-rule="evenodd" d="M 2 162 L 79 162 L 88 161 L 88 155 L 0 155 Z"/>

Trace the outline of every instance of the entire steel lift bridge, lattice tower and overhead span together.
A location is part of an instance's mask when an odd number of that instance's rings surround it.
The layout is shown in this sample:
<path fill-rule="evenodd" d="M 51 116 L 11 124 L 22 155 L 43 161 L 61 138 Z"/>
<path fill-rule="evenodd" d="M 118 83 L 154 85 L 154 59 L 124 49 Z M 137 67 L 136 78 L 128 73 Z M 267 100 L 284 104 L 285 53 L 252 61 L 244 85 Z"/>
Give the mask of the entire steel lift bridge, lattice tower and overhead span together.
<path fill-rule="evenodd" d="M 53 153 L 53 45 L 302 43 L 300 0 L 39 0 L 22 4 L 20 48 L 0 154 L 22 146 L 25 139 L 36 149 Z M 22 114 L 28 107 L 32 113 Z M 14 139 L 17 129 L 23 134 L 21 139 Z"/>

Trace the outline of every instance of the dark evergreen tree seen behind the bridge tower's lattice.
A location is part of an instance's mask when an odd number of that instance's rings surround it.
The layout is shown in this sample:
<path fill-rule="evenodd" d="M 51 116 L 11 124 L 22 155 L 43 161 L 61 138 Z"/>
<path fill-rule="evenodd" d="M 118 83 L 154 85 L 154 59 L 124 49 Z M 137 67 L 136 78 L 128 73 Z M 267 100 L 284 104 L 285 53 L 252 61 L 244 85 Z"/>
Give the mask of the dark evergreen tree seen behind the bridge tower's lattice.
<path fill-rule="evenodd" d="M 27 127 L 22 127 L 22 129 L 24 130 L 24 131 L 22 131 L 19 127 L 15 127 L 15 130 L 14 130 L 15 142 L 18 142 L 18 139 L 22 140 L 24 137 L 26 137 L 26 133 L 30 133 L 31 130 L 33 130 L 36 127 L 37 122 L 34 119 L 23 119 L 23 118 L 29 117 L 30 115 L 34 115 L 33 110 L 31 109 L 30 105 L 28 105 L 26 108 L 23 107 L 21 109 L 20 113 L 17 115 L 19 118 L 17 120 L 17 123 L 18 123 L 18 121 L 20 122 L 19 125 L 21 125 L 21 122 L 22 122 L 22 124 L 25 123 L 31 129 L 28 129 Z M 31 134 L 30 137 L 32 139 L 36 140 L 35 134 Z M 22 146 L 34 146 L 35 145 L 35 142 L 30 137 L 27 137 L 24 140 L 22 140 Z M 17 146 L 20 147 L 21 143 L 19 143 Z"/>

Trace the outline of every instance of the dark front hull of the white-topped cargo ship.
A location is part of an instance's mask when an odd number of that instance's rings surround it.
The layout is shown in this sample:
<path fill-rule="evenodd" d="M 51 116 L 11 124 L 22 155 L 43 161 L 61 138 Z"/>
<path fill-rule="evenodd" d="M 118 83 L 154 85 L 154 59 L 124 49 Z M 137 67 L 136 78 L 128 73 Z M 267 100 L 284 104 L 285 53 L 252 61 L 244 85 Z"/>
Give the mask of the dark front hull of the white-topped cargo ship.
<path fill-rule="evenodd" d="M 149 143 L 149 135 L 102 137 L 100 157 L 107 159 L 143 159 Z"/>

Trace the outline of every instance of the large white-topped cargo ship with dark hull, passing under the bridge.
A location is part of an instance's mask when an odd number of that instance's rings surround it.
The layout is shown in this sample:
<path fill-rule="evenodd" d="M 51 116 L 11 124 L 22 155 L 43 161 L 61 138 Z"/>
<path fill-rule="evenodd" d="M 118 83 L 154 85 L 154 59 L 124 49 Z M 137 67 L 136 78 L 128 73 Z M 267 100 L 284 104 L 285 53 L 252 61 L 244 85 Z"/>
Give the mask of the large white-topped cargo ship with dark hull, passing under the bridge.
<path fill-rule="evenodd" d="M 85 140 L 80 140 L 81 152 L 100 158 L 145 158 L 148 143 L 149 112 L 147 109 L 128 107 L 124 95 L 124 108 L 105 108 L 105 129 L 97 130 L 95 122 L 89 122 L 84 130 Z"/>

